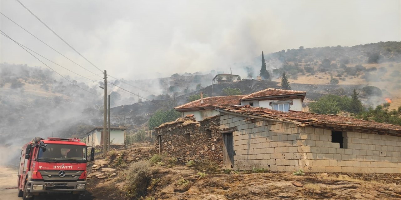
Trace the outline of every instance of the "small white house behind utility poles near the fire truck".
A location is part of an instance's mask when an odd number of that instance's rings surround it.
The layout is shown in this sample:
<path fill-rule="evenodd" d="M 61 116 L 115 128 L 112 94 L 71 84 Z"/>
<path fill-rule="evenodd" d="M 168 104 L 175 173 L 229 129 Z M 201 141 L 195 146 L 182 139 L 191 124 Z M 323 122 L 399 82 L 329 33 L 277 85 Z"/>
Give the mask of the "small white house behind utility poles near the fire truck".
<path fill-rule="evenodd" d="M 110 128 L 110 144 L 123 145 L 125 144 L 126 128 Z M 85 134 L 86 144 L 88 146 L 103 145 L 103 127 L 95 127 Z"/>

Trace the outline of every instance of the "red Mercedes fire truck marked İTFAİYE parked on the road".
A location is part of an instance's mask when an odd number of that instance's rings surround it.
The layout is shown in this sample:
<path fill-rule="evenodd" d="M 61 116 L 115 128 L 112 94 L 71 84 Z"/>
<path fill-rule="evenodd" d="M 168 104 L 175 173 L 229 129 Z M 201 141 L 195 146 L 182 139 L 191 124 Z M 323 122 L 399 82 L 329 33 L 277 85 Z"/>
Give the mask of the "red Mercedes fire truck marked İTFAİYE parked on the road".
<path fill-rule="evenodd" d="M 63 193 L 79 199 L 86 187 L 88 147 L 77 138 L 34 138 L 22 146 L 18 197 L 32 200 L 43 194 Z M 95 149 L 91 148 L 93 161 Z"/>

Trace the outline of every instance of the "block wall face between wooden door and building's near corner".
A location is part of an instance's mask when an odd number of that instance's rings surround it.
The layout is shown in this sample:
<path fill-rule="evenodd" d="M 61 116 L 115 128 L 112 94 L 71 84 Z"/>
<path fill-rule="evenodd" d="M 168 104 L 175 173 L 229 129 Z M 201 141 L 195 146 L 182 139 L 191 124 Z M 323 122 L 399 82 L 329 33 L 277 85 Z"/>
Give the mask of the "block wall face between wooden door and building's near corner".
<path fill-rule="evenodd" d="M 273 171 L 299 169 L 306 145 L 303 128 L 292 123 L 266 120 L 245 120 L 245 117 L 225 114 L 220 117 L 220 129 L 233 128 L 234 169 L 265 168 Z M 301 134 L 302 132 L 302 134 Z"/>

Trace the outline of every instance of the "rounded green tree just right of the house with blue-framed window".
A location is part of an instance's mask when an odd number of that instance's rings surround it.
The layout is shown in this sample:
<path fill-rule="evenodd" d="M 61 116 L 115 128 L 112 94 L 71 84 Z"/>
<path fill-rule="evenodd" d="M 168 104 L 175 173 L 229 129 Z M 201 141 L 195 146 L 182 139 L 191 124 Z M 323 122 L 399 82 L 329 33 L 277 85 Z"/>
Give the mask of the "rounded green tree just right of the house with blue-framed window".
<path fill-rule="evenodd" d="M 319 100 L 309 104 L 310 112 L 318 114 L 337 114 L 340 112 L 338 103 L 330 96 L 322 96 Z"/>

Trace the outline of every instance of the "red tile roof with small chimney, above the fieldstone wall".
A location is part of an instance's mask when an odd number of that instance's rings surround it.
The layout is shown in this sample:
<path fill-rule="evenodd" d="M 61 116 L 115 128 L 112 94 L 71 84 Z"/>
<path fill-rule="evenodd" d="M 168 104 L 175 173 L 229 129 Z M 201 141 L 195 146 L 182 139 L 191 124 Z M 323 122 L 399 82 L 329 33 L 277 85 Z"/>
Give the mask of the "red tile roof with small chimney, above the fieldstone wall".
<path fill-rule="evenodd" d="M 181 106 L 177 106 L 174 109 L 184 110 L 184 109 L 195 109 L 195 108 L 215 108 L 217 106 L 234 106 L 241 104 L 241 98 L 245 95 L 236 96 L 212 96 L 203 98 L 203 103 L 201 100 L 192 101 Z"/>

